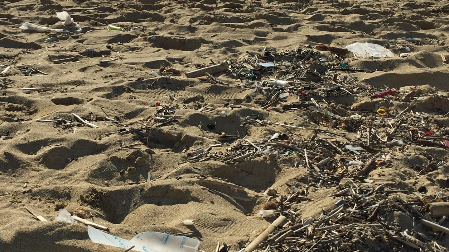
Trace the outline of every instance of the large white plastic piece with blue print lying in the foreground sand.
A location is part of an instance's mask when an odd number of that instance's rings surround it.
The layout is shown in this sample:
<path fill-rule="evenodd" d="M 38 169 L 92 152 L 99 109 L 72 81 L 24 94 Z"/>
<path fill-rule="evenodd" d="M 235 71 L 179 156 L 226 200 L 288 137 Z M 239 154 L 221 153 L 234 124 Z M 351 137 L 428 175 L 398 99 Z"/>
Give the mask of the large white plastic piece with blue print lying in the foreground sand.
<path fill-rule="evenodd" d="M 141 252 L 196 252 L 199 241 L 186 236 L 174 236 L 159 232 L 143 232 L 126 240 L 107 234 L 92 226 L 87 227 L 89 238 L 94 243 L 128 249 Z"/>

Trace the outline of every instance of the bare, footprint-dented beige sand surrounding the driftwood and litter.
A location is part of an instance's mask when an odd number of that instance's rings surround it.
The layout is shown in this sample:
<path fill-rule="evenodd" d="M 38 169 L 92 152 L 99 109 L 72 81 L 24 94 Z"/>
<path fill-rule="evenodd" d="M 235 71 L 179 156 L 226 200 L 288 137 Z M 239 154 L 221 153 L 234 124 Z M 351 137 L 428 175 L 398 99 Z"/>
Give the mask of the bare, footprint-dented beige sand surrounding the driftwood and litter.
<path fill-rule="evenodd" d="M 269 220 L 253 214 L 267 200 L 262 195 L 267 187 L 286 194 L 286 183 L 298 188 L 308 183 L 304 167 L 292 168 L 296 161 L 303 160 L 294 155 L 261 156 L 238 164 L 212 160 L 190 163 L 185 162 L 183 150 L 190 152 L 218 143 L 207 138 L 216 138 L 219 132 L 248 135 L 254 141 L 275 132 L 311 137 L 309 131 L 282 126 L 242 125 L 242 118 L 252 113 L 296 126 L 311 122 L 304 113 L 261 110 L 260 105 L 246 100 L 253 96 L 252 88 L 238 87 L 240 81 L 233 74 L 217 74 L 232 83 L 220 86 L 186 78 L 183 73 L 195 70 L 194 64 L 243 58 L 248 56 L 247 51 L 259 52 L 265 47 L 292 50 L 317 43 L 344 47 L 354 42 L 387 46 L 403 36 L 430 43 L 405 44 L 411 47 L 407 58 L 349 57 L 353 67 L 374 71 L 352 76 L 374 87 L 428 85 L 448 90 L 448 65 L 440 56 L 449 49 L 445 45 L 449 42 L 447 4 L 447 0 L 1 1 L 0 53 L 4 56 L 0 65 L 1 70 L 8 65 L 12 69 L 0 78 L 0 251 L 123 251 L 92 243 L 82 224 L 55 222 L 62 207 L 91 213 L 90 220 L 109 226 L 111 234 L 125 239 L 150 230 L 169 234 L 194 231 L 191 237 L 202 241 L 201 250 L 215 251 L 216 243 L 224 242 L 232 246 L 231 251 L 237 251 L 269 224 Z M 57 41 L 45 42 L 53 35 L 19 29 L 24 22 L 64 28 L 55 15 L 63 10 L 83 28 L 82 33 L 64 32 L 56 35 Z M 108 24 L 137 28 L 106 30 Z M 109 51 L 106 45 L 115 51 Z M 110 55 L 88 57 L 86 48 Z M 75 61 L 52 62 L 70 57 L 76 57 Z M 116 60 L 99 63 L 107 59 Z M 163 66 L 181 74 L 151 74 Z M 26 76 L 21 72 L 23 67 L 48 75 Z M 20 90 L 30 87 L 52 90 Z M 207 105 L 215 109 L 201 112 L 193 105 L 183 108 L 183 99 L 196 94 L 204 96 Z M 345 103 L 350 107 L 363 99 L 352 98 Z M 181 116 L 179 123 L 155 128 L 151 132 L 154 141 L 147 146 L 136 134 L 105 135 L 120 128 L 140 127 L 137 122 L 145 122 L 156 113 L 156 102 L 183 109 L 175 113 Z M 241 108 L 226 109 L 229 116 L 222 118 L 225 103 Z M 101 109 L 110 117 L 115 111 L 123 124 L 107 121 Z M 422 109 L 423 113 L 437 109 L 448 112 L 449 101 L 428 101 Z M 97 118 L 91 122 L 99 128 L 76 123 L 68 129 L 54 127 L 52 122 L 36 122 L 52 116 L 73 120 L 71 113 Z M 447 118 L 441 118 L 446 128 Z M 217 129 L 210 132 L 207 124 L 213 122 Z M 121 148 L 134 143 L 138 144 Z M 217 150 L 225 152 L 231 145 L 226 143 Z M 408 157 L 403 155 L 391 168 L 370 175 L 394 181 L 401 190 L 417 191 L 426 186 L 430 194 L 447 194 L 447 184 L 441 182 L 447 176 L 447 164 L 427 174 L 411 168 L 414 162 L 424 162 L 423 151 L 421 147 L 409 148 Z M 448 158 L 445 149 L 431 151 Z M 120 173 L 130 166 L 136 168 L 134 173 Z M 145 182 L 149 171 L 152 180 Z M 226 179 L 247 189 L 198 182 L 198 174 Z M 332 189 L 312 190 L 308 197 L 315 201 L 300 207 L 303 217 L 317 216 L 323 208 L 332 209 L 335 199 L 326 197 L 330 192 Z M 49 222 L 34 220 L 24 206 Z M 195 225 L 184 226 L 186 219 L 194 219 Z"/>

